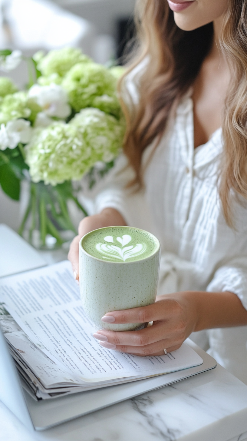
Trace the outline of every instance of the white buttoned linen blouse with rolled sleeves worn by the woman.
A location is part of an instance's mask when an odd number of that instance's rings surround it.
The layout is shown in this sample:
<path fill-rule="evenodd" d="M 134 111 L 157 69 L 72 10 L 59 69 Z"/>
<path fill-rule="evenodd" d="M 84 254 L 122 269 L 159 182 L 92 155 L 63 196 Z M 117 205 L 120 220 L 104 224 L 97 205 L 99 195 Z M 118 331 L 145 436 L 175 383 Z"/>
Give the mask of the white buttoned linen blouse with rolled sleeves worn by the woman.
<path fill-rule="evenodd" d="M 150 156 L 144 154 L 145 191 L 130 194 L 123 158 L 95 199 L 96 212 L 117 209 L 127 224 L 153 232 L 161 242 L 158 294 L 184 290 L 233 292 L 247 309 L 247 204 L 233 195 L 235 229 L 225 222 L 217 190 L 221 129 L 194 148 L 193 101 L 186 96 Z M 149 160 L 147 158 L 149 157 Z M 203 335 L 202 335 L 203 334 Z M 218 363 L 247 383 L 247 326 L 193 333 Z"/>

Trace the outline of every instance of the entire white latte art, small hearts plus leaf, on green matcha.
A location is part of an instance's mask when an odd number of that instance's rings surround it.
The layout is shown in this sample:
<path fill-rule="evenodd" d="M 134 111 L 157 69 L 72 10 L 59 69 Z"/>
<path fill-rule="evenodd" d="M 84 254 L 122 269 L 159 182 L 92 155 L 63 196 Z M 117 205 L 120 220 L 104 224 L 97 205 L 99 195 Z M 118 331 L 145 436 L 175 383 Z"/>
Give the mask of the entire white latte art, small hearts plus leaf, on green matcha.
<path fill-rule="evenodd" d="M 114 239 L 112 236 L 106 236 L 104 238 L 106 242 L 114 243 Z M 132 238 L 128 234 L 124 234 L 122 237 L 117 237 L 116 240 L 121 243 L 122 248 L 117 247 L 116 245 L 108 245 L 106 243 L 97 243 L 96 249 L 101 254 L 103 254 L 102 258 L 105 259 L 118 259 L 125 262 L 129 258 L 137 257 L 140 254 L 146 252 L 146 244 L 145 243 L 137 243 L 134 245 L 130 245 L 129 247 L 124 247 L 131 242 Z"/>

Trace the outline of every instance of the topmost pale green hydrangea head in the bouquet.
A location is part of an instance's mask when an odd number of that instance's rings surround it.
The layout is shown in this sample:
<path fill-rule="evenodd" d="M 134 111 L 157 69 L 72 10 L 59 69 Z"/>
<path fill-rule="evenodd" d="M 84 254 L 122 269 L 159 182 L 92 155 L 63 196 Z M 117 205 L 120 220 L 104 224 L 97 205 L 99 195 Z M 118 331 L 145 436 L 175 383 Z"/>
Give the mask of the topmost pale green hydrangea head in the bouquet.
<path fill-rule="evenodd" d="M 80 49 L 64 48 L 50 51 L 41 58 L 37 64 L 37 69 L 45 77 L 54 73 L 63 77 L 75 64 L 88 61 L 90 61 L 90 58 L 82 54 Z"/>

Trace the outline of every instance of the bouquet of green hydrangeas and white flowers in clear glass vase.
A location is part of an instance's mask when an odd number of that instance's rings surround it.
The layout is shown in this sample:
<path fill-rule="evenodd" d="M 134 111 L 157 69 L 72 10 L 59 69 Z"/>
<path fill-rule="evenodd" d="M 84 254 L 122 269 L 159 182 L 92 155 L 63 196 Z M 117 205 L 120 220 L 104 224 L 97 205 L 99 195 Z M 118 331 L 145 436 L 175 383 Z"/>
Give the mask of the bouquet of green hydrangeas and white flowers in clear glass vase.
<path fill-rule="evenodd" d="M 0 69 L 21 59 L 20 51 L 0 51 Z M 120 152 L 124 120 L 116 82 L 122 68 L 108 69 L 72 48 L 40 51 L 27 62 L 25 91 L 0 77 L 0 185 L 19 200 L 22 179 L 29 181 L 19 234 L 37 247 L 54 247 L 67 240 L 63 231 L 76 234 L 69 200 L 87 215 L 74 181 L 88 174 L 91 187 L 95 173 L 103 176 Z"/>

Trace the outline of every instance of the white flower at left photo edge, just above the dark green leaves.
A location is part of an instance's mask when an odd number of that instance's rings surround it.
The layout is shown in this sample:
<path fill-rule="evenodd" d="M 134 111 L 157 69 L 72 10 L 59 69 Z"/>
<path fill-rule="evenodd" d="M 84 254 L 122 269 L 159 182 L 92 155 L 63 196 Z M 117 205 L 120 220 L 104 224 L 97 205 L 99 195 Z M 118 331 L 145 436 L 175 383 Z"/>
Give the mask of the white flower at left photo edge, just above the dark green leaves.
<path fill-rule="evenodd" d="M 19 142 L 26 144 L 30 141 L 32 129 L 30 121 L 13 120 L 8 121 L 6 126 L 1 124 L 0 128 L 0 150 L 15 149 Z"/>

